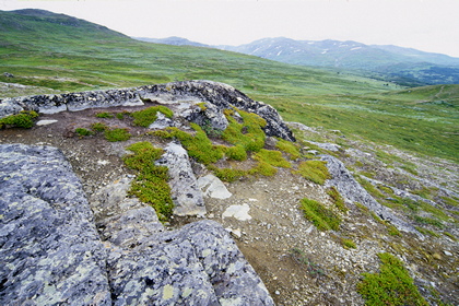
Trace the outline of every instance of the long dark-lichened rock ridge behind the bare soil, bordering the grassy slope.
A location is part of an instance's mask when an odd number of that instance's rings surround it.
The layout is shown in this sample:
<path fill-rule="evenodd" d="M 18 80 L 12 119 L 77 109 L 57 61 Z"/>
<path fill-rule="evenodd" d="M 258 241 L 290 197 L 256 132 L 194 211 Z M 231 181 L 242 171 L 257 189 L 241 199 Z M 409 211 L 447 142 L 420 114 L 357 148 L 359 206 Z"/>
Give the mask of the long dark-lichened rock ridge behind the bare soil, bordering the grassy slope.
<path fill-rule="evenodd" d="M 237 107 L 262 117 L 267 121 L 264 127 L 267 136 L 295 140 L 292 131 L 272 106 L 252 101 L 229 85 L 211 81 L 185 81 L 136 89 L 5 98 L 0 101 L 0 118 L 21 110 L 52 114 L 97 107 L 143 105 L 149 101 L 176 104 L 179 109 L 181 108 L 180 111 L 186 119 L 199 125 L 209 121 L 213 128 L 220 130 L 227 126 L 223 110 Z M 207 105 L 205 109 L 189 109 L 191 105 L 201 103 Z"/>

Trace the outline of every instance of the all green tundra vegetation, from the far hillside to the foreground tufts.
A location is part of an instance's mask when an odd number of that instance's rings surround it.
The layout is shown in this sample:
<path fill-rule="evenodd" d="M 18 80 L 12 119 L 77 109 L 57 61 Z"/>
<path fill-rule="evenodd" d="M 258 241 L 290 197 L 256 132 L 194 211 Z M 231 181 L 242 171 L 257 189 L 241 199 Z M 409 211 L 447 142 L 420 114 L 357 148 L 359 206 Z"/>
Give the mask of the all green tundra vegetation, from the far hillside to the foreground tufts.
<path fill-rule="evenodd" d="M 447 305 L 442 301 L 455 289 L 457 273 L 451 267 L 457 267 L 457 259 L 449 260 L 442 248 L 457 243 L 459 197 L 444 189 L 457 192 L 459 186 L 457 178 L 449 179 L 459 162 L 459 85 L 404 87 L 210 48 L 137 42 L 82 21 L 78 21 L 79 26 L 56 26 L 58 23 L 43 19 L 0 14 L 0 70 L 14 75 L 0 74 L 0 82 L 9 84 L 0 87 L 0 98 L 205 79 L 233 85 L 272 105 L 285 120 L 308 126 L 306 131 L 294 130 L 297 143 L 278 140 L 273 150 L 266 146 L 260 117 L 232 109 L 225 114 L 229 121 L 225 131 L 191 125 L 191 132 L 169 128 L 144 138 L 177 139 L 197 162 L 222 180 L 236 183 L 275 175 L 285 167 L 325 189 L 322 184 L 330 177 L 315 154 L 338 156 L 379 203 L 407 216 L 426 236 L 421 242 L 400 233 L 363 204 L 344 203 L 336 189 L 327 189 L 327 199 L 320 201 L 302 196 L 297 208 L 344 252 L 356 254 L 362 242 L 388 251 L 378 256 L 380 271 L 365 273 L 357 284 L 367 305 L 426 305 L 413 275 L 425 278 L 423 281 L 435 275 L 437 287 L 421 293 L 433 305 Z M 117 128 L 116 120 L 128 121 L 132 128 L 145 127 L 157 111 L 173 116 L 164 108 L 136 115 L 99 113 L 99 122 L 74 131 L 84 139 L 125 141 L 129 129 Z M 235 111 L 243 120 L 234 116 Z M 36 119 L 36 113 L 23 113 L 0 119 L 0 128 L 31 128 Z M 225 144 L 214 144 L 211 138 Z M 329 152 L 307 141 L 337 143 L 341 150 Z M 167 173 L 154 166 L 162 151 L 144 141 L 127 149 L 133 153 L 123 162 L 137 174 L 131 195 L 155 207 L 160 219 L 167 222 L 173 208 Z M 431 162 L 442 165 L 444 175 L 436 176 L 438 181 L 428 179 Z M 400 190 L 419 198 L 403 197 Z M 361 224 L 351 228 L 350 215 Z M 291 249 L 291 257 L 311 274 L 334 273 L 314 263 L 304 248 Z M 351 274 L 339 273 L 343 279 Z M 428 287 L 425 283 L 416 285 Z M 457 299 L 448 302 L 454 305 Z"/>

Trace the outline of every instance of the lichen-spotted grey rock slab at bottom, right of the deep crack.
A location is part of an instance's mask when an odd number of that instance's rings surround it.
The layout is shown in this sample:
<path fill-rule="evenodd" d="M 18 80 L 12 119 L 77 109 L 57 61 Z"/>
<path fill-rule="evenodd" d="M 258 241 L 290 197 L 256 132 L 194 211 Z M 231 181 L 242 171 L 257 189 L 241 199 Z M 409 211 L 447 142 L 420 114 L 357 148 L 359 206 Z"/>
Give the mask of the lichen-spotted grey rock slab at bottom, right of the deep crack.
<path fill-rule="evenodd" d="M 228 233 L 200 221 L 108 258 L 114 305 L 274 305 Z"/>

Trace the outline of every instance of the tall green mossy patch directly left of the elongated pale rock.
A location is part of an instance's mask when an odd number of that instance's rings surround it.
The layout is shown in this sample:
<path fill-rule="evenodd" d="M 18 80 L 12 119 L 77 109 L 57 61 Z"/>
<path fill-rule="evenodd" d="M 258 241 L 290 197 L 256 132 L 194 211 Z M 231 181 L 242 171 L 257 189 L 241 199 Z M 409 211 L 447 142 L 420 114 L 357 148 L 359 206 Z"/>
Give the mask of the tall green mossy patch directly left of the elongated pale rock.
<path fill-rule="evenodd" d="M 154 148 L 150 142 L 138 142 L 126 149 L 134 154 L 125 156 L 125 164 L 138 172 L 129 193 L 138 197 L 140 201 L 151 204 L 160 221 L 168 221 L 174 203 L 170 198 L 170 187 L 167 184 L 167 167 L 154 164 L 164 151 Z"/>

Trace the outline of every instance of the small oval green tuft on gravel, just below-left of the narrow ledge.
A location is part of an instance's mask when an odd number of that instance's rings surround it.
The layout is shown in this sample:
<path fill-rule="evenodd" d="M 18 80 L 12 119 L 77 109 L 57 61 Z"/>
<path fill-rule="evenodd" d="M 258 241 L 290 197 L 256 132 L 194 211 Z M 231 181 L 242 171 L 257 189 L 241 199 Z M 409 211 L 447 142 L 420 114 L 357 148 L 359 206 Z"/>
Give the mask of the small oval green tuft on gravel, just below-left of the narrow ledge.
<path fill-rule="evenodd" d="M 299 208 L 303 210 L 305 217 L 313 222 L 319 231 L 339 229 L 341 223 L 340 216 L 323 204 L 304 198 L 301 201 Z"/>

